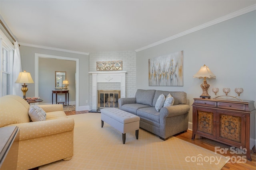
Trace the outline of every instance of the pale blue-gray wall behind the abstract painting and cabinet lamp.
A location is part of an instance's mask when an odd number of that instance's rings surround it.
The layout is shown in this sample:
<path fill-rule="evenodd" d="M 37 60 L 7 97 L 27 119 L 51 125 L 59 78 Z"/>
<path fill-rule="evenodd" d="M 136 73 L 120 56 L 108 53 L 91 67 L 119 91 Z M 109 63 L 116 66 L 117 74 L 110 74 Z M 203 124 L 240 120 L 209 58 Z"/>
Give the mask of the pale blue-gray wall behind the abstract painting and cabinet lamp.
<path fill-rule="evenodd" d="M 184 86 L 148 86 L 148 59 L 184 50 Z M 256 11 L 212 25 L 172 41 L 140 51 L 136 54 L 136 88 L 184 91 L 193 104 L 193 98 L 202 94 L 202 79 L 193 78 L 201 66 L 208 65 L 216 79 L 207 79 L 212 98 L 213 87 L 225 95 L 237 96 L 235 88 L 243 88 L 242 100 L 256 101 Z M 254 103 L 255 105 L 255 103 Z M 189 121 L 192 122 L 192 106 Z M 254 129 L 255 131 L 255 129 Z"/>

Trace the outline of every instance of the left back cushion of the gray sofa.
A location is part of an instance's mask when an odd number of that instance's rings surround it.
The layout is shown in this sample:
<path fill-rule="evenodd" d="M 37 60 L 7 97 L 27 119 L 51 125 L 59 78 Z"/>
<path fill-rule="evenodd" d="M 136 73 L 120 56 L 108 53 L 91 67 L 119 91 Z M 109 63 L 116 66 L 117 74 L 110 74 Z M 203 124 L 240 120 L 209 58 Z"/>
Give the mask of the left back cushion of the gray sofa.
<path fill-rule="evenodd" d="M 145 104 L 153 107 L 152 102 L 155 96 L 156 90 L 142 90 L 138 89 L 135 98 L 136 98 L 136 103 L 138 104 Z M 158 94 L 159 96 L 160 94 Z M 157 96 L 157 98 L 158 98 Z M 156 100 L 157 100 L 156 98 Z M 154 105 L 155 106 L 155 105 Z"/>

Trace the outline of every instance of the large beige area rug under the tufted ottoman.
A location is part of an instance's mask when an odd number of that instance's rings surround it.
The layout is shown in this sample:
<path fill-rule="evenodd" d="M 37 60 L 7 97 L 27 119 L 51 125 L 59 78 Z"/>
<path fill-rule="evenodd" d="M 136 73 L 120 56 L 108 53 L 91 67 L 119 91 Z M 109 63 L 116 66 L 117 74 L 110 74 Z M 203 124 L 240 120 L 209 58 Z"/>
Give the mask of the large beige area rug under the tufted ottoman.
<path fill-rule="evenodd" d="M 69 161 L 57 161 L 40 170 L 187 170 L 221 169 L 228 158 L 176 137 L 162 141 L 158 136 L 139 130 L 122 133 L 104 123 L 100 113 L 70 115 L 74 118 L 74 156 Z"/>

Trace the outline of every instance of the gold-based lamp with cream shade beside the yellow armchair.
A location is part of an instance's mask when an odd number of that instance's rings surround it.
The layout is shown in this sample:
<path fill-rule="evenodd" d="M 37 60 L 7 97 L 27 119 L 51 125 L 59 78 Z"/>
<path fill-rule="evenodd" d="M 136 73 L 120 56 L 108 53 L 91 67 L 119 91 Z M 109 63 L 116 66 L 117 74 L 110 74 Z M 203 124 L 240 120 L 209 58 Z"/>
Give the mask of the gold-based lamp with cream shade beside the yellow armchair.
<path fill-rule="evenodd" d="M 15 83 L 24 83 L 22 85 L 21 91 L 23 92 L 23 99 L 26 100 L 26 92 L 28 91 L 28 88 L 27 88 L 28 85 L 26 85 L 26 83 L 34 83 L 30 75 L 30 72 L 26 72 L 26 70 L 24 70 L 24 72 L 20 72 Z"/>

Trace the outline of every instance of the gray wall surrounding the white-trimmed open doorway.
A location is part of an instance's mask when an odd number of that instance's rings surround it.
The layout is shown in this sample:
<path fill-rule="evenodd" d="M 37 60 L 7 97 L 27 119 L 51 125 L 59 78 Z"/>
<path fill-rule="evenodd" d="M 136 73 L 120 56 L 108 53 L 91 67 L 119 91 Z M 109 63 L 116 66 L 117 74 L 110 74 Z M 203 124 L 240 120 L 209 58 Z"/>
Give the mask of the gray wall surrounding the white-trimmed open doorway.
<path fill-rule="evenodd" d="M 20 56 L 21 56 L 22 70 L 26 70 L 27 72 L 30 72 L 33 79 L 35 77 L 35 53 L 79 59 L 79 106 L 80 107 L 88 106 L 88 103 L 86 103 L 86 100 L 89 100 L 89 82 L 88 82 L 89 57 L 88 55 L 67 53 L 62 51 L 41 49 L 41 48 L 28 47 L 28 46 L 21 45 Z M 28 92 L 26 93 L 26 96 L 34 96 L 34 92 L 35 92 L 34 84 L 28 84 Z M 49 93 L 49 96 L 52 96 L 51 92 Z"/>

